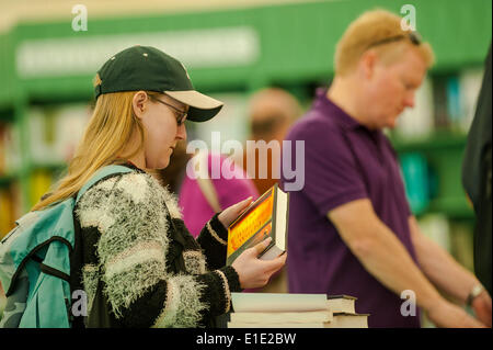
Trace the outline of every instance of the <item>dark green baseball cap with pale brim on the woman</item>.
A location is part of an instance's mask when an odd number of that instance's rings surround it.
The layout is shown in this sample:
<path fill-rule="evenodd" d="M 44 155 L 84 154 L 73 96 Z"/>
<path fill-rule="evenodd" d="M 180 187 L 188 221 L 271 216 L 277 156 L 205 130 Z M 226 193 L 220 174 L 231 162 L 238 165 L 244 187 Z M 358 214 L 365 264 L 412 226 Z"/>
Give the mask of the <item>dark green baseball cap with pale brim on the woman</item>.
<path fill-rule="evenodd" d="M 110 58 L 98 71 L 95 99 L 103 93 L 156 91 L 188 105 L 187 120 L 205 122 L 223 103 L 195 91 L 181 61 L 152 46 L 131 46 Z"/>

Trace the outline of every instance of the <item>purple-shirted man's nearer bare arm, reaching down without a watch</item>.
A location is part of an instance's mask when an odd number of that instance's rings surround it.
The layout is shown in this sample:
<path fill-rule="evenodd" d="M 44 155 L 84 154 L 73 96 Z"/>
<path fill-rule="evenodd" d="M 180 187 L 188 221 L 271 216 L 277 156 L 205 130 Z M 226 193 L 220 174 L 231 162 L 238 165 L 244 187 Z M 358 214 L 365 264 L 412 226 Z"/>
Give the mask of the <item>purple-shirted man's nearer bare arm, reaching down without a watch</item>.
<path fill-rule="evenodd" d="M 440 296 L 392 230 L 378 218 L 369 200 L 337 206 L 328 213 L 328 217 L 371 275 L 398 295 L 412 290 L 417 305 L 437 326 L 483 326 Z"/>

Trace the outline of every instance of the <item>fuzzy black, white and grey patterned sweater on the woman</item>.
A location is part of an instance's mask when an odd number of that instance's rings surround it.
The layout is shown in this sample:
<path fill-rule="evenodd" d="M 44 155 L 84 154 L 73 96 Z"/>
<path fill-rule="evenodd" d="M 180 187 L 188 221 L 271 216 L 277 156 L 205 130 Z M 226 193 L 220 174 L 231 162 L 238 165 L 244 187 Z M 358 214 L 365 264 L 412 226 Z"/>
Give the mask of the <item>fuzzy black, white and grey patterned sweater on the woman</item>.
<path fill-rule="evenodd" d="M 210 325 L 230 309 L 230 293 L 241 291 L 234 269 L 223 267 L 227 230 L 216 214 L 195 240 L 175 197 L 130 168 L 99 181 L 74 210 L 89 314 L 102 285 L 112 326 Z"/>

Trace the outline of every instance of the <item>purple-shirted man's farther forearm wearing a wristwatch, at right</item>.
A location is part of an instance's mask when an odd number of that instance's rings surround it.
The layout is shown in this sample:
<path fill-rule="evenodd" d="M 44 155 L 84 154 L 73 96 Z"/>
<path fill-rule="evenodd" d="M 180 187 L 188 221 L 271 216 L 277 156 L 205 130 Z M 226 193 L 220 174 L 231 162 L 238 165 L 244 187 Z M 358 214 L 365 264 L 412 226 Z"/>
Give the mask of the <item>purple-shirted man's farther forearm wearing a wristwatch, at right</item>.
<path fill-rule="evenodd" d="M 466 304 L 469 293 L 481 283 L 445 249 L 423 235 L 414 216 L 410 216 L 409 227 L 417 260 L 424 274 L 438 290 Z M 479 305 L 486 309 L 480 311 L 474 307 L 474 311 L 480 319 L 491 327 L 491 297 L 486 291 L 483 291 L 478 297 L 483 300 L 483 303 L 479 303 Z M 489 309 L 488 305 L 490 305 Z M 483 318 L 482 314 L 489 317 Z"/>

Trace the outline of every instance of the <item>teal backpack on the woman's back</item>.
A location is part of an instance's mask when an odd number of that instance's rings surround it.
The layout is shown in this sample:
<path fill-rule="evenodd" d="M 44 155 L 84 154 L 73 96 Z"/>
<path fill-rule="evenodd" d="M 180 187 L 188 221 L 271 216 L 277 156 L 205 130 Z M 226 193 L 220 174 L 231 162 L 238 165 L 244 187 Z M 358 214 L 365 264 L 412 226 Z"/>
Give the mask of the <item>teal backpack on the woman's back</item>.
<path fill-rule="evenodd" d="M 99 180 L 130 172 L 124 166 L 101 168 L 77 194 L 45 210 L 30 212 L 0 242 L 0 281 L 7 305 L 0 328 L 72 326 L 70 259 L 76 250 L 73 208 Z"/>

